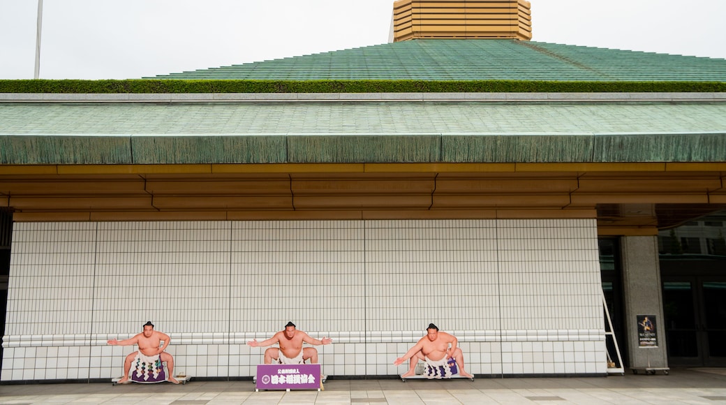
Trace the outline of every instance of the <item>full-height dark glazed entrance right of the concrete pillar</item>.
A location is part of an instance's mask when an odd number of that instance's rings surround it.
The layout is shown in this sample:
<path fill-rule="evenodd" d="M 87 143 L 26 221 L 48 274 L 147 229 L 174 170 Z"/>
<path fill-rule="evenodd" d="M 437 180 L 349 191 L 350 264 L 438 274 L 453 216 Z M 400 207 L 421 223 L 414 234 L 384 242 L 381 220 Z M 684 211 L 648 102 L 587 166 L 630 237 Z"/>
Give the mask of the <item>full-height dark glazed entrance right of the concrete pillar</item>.
<path fill-rule="evenodd" d="M 726 213 L 658 234 L 668 361 L 726 367 Z"/>

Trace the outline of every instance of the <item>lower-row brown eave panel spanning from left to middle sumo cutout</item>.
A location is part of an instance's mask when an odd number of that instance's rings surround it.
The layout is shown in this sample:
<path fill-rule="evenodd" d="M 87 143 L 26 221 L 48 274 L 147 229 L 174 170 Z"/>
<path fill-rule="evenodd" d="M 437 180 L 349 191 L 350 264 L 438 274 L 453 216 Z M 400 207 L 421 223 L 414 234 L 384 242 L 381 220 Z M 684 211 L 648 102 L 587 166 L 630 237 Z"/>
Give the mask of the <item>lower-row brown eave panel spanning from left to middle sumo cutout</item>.
<path fill-rule="evenodd" d="M 154 197 L 154 207 L 160 210 L 291 210 L 293 197 L 261 195 L 240 197 L 210 195 L 203 197 Z"/>

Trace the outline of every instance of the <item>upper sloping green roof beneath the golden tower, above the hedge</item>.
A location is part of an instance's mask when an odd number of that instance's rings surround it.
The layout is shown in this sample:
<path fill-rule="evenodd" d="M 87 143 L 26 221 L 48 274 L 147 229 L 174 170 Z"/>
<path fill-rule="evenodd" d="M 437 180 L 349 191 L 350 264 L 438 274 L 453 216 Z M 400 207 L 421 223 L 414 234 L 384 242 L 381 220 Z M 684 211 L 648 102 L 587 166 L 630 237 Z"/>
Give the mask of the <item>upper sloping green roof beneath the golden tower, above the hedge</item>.
<path fill-rule="evenodd" d="M 510 39 L 417 39 L 155 78 L 726 81 L 726 60 Z"/>

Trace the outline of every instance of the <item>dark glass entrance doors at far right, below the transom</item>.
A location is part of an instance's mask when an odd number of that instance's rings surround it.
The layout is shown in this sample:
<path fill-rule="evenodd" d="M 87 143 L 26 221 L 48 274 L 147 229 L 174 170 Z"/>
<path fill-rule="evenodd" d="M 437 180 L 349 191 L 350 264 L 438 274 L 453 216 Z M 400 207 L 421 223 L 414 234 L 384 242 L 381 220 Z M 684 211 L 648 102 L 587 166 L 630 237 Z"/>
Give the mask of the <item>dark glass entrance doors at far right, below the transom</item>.
<path fill-rule="evenodd" d="M 664 277 L 669 363 L 726 366 L 726 277 Z"/>

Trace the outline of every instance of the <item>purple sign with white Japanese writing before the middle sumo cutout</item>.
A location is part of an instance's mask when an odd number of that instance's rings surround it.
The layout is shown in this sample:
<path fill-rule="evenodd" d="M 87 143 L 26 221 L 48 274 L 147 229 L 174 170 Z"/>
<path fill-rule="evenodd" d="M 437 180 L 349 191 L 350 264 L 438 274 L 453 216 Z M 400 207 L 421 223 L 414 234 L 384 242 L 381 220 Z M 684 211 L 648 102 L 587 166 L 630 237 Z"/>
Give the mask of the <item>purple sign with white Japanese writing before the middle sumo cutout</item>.
<path fill-rule="evenodd" d="M 320 388 L 320 364 L 258 364 L 258 390 L 309 390 Z"/>

